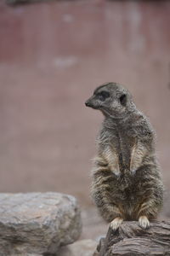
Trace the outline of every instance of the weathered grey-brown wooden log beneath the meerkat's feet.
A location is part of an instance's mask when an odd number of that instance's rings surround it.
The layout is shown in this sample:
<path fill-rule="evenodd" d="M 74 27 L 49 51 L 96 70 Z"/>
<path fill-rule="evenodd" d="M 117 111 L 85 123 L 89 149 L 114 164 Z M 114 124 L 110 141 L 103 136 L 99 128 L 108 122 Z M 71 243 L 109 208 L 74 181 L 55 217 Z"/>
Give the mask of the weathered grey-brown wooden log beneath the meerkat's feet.
<path fill-rule="evenodd" d="M 94 256 L 125 255 L 170 255 L 170 221 L 151 222 L 148 230 L 142 230 L 136 221 L 124 221 L 115 232 L 109 228 Z"/>

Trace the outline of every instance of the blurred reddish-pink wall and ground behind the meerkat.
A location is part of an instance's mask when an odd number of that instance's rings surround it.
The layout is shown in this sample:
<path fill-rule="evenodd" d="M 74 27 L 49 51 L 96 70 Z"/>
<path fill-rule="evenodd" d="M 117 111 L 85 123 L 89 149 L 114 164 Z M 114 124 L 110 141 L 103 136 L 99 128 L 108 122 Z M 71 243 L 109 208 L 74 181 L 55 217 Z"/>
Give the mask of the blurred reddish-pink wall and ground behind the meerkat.
<path fill-rule="evenodd" d="M 125 84 L 150 117 L 170 218 L 170 2 L 0 2 L 0 192 L 58 191 L 82 207 L 82 237 L 108 225 L 90 199 L 102 114 L 84 102 Z"/>

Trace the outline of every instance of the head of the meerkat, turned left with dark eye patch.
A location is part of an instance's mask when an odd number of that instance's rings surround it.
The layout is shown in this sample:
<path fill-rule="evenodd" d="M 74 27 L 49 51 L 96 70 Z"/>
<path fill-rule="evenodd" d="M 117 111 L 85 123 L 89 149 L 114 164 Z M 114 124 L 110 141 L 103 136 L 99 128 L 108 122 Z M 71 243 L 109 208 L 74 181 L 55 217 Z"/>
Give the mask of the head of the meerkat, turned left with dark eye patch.
<path fill-rule="evenodd" d="M 133 102 L 129 91 L 121 84 L 106 83 L 97 87 L 94 95 L 85 104 L 87 107 L 99 109 L 106 116 L 119 117 L 127 113 Z"/>

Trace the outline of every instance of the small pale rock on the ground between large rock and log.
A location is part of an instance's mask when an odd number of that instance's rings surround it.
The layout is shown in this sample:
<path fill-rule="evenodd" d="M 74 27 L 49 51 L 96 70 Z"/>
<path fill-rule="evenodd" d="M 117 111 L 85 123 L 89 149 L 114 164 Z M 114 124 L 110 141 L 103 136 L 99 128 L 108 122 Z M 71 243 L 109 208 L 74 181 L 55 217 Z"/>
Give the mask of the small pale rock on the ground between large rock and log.
<path fill-rule="evenodd" d="M 96 247 L 97 241 L 91 239 L 80 240 L 61 248 L 59 256 L 92 256 Z"/>

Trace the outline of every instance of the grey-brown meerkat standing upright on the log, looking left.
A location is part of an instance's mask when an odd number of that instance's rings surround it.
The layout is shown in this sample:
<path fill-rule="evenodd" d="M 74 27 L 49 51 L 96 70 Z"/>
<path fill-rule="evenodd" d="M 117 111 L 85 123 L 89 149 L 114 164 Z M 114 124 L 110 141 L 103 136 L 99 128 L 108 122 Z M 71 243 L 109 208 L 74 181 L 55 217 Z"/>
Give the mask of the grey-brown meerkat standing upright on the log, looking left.
<path fill-rule="evenodd" d="M 156 133 L 122 84 L 102 84 L 85 103 L 104 121 L 97 137 L 91 194 L 101 216 L 116 230 L 123 220 L 147 229 L 163 201 Z"/>

